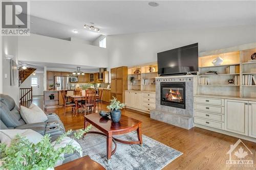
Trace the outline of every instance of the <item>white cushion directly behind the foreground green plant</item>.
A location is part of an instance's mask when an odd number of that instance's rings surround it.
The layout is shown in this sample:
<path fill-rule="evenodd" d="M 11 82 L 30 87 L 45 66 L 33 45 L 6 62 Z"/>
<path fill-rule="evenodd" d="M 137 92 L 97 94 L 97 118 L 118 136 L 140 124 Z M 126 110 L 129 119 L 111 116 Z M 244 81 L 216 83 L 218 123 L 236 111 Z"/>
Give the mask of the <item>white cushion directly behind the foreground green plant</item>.
<path fill-rule="evenodd" d="M 38 143 L 42 135 L 31 130 L 31 129 L 7 129 L 0 130 L 0 141 L 1 143 L 6 143 L 7 146 L 11 144 L 11 140 L 16 137 L 16 135 L 25 136 L 30 142 Z"/>

